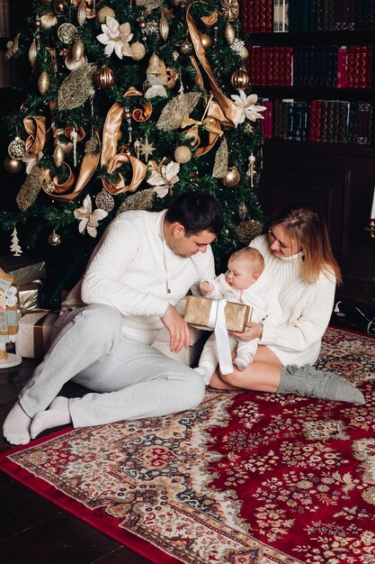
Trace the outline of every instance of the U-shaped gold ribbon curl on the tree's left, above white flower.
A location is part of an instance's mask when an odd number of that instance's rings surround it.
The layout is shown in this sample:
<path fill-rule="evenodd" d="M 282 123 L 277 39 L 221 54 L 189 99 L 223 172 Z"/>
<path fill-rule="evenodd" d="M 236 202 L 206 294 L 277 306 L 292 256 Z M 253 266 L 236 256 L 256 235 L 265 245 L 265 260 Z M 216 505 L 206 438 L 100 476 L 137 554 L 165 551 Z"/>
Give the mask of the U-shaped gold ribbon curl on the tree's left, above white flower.
<path fill-rule="evenodd" d="M 95 133 L 99 141 L 99 134 Z M 85 188 L 87 182 L 93 176 L 100 159 L 100 152 L 85 153 L 85 157 L 82 159 L 81 168 L 79 169 L 79 174 L 76 179 L 72 169 L 64 163 L 69 170 L 69 177 L 67 181 L 63 184 L 58 184 L 58 177 L 52 177 L 50 170 L 46 169 L 43 174 L 43 180 L 41 187 L 43 191 L 52 200 L 57 200 L 58 202 L 70 202 L 79 196 L 82 190 Z M 67 191 L 75 184 L 73 190 L 67 194 Z"/>

